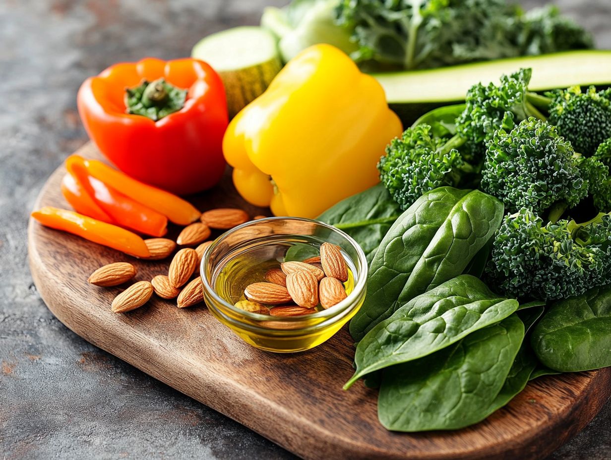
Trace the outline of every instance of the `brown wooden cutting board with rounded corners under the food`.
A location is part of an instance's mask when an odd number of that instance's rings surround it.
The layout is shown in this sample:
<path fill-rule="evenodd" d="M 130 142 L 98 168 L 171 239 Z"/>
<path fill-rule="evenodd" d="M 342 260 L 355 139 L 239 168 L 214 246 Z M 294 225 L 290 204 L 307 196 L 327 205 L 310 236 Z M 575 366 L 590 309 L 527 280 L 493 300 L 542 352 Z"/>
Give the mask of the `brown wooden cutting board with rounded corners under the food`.
<path fill-rule="evenodd" d="M 90 144 L 78 153 L 100 156 Z M 64 172 L 59 167 L 51 175 L 36 208 L 68 207 L 59 188 Z M 236 206 L 251 216 L 269 213 L 247 205 L 229 175 L 193 201 L 201 210 Z M 169 237 L 177 233 L 172 228 Z M 378 422 L 376 390 L 360 383 L 342 390 L 353 373 L 346 327 L 310 351 L 272 354 L 246 345 L 205 304 L 179 310 L 153 296 L 145 307 L 116 315 L 110 304 L 121 288 L 91 286 L 89 274 L 130 261 L 137 279 L 150 280 L 166 273 L 169 261 L 136 260 L 32 219 L 29 261 L 43 300 L 76 334 L 305 459 L 540 459 L 587 425 L 611 395 L 611 368 L 549 376 L 470 428 L 391 433 Z"/>

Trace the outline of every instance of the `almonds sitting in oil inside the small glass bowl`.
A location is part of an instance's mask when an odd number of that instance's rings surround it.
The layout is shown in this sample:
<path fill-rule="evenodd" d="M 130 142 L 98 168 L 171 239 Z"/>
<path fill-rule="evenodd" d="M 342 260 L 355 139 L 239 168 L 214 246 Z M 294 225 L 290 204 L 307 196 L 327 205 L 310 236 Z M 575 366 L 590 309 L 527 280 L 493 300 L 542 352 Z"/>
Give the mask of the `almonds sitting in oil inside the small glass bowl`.
<path fill-rule="evenodd" d="M 269 269 L 265 281 L 244 289 L 246 301 L 236 307 L 271 316 L 300 316 L 316 312 L 316 307 L 331 308 L 346 298 L 343 285 L 348 266 L 338 246 L 323 243 L 320 257 L 290 261 Z"/>

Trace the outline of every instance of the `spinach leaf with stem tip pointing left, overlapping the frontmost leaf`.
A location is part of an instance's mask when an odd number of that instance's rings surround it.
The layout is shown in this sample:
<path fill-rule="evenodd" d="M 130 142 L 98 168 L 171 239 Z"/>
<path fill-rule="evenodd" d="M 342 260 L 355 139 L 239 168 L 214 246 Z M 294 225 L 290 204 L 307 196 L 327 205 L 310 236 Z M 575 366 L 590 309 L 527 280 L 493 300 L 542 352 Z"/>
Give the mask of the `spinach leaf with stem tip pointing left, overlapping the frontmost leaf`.
<path fill-rule="evenodd" d="M 368 332 L 356 348 L 356 372 L 345 389 L 370 372 L 429 355 L 518 308 L 481 280 L 461 275 L 421 294 Z"/>

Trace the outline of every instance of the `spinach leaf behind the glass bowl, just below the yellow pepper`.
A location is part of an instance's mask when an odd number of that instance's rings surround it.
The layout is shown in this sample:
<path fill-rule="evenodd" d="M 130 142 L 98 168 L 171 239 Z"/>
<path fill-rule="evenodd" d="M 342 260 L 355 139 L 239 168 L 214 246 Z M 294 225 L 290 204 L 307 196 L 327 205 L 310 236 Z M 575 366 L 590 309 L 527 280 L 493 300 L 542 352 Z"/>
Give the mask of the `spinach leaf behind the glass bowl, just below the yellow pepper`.
<path fill-rule="evenodd" d="M 378 184 L 340 201 L 317 219 L 352 236 L 367 255 L 367 261 L 371 261 L 380 241 L 401 212 L 389 192 Z M 309 246 L 294 247 L 287 251 L 285 260 L 304 260 L 314 255 Z"/>

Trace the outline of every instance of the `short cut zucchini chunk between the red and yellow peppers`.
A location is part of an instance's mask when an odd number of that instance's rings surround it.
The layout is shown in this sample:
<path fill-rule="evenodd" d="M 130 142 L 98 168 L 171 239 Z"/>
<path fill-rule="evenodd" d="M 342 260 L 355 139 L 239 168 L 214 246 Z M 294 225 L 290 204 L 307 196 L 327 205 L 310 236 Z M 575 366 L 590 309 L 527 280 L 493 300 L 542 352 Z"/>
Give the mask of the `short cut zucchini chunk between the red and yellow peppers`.
<path fill-rule="evenodd" d="M 282 68 L 276 38 L 262 27 L 233 27 L 208 35 L 193 47 L 221 76 L 233 117 L 267 89 Z"/>

